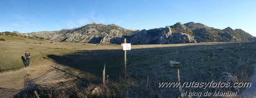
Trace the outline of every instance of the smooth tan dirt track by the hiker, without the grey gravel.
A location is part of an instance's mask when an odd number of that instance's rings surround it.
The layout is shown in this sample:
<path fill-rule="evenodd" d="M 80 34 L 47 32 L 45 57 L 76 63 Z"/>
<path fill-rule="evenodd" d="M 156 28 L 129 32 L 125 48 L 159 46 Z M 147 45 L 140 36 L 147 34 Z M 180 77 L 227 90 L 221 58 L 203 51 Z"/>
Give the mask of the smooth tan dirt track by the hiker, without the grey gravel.
<path fill-rule="evenodd" d="M 41 59 L 39 60 L 35 59 Z M 0 74 L 0 87 L 1 88 L 14 88 L 16 90 L 26 89 L 28 81 L 37 78 L 47 72 L 53 62 L 43 60 L 39 56 L 31 61 L 29 68 L 21 68 L 16 71 L 4 72 Z M 25 85 L 25 87 L 24 87 Z"/>

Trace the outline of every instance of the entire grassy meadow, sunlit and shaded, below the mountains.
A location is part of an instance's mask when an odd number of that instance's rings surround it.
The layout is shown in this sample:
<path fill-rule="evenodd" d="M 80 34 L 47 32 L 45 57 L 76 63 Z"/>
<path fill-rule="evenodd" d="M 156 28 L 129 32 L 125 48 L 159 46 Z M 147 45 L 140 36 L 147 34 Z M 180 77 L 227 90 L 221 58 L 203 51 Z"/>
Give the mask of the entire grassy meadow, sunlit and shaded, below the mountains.
<path fill-rule="evenodd" d="M 127 51 L 127 75 L 124 75 L 124 51 L 120 45 L 50 43 L 49 40 L 33 38 L 15 39 L 10 35 L 0 37 L 5 39 L 0 41 L 2 73 L 24 67 L 20 59 L 25 50 L 29 50 L 31 58 L 37 56 L 42 59 L 44 55 L 45 59 L 66 67 L 62 72 L 78 77 L 51 88 L 38 84 L 36 89 L 19 93 L 17 96 L 20 97 L 35 97 L 34 90 L 39 96 L 50 98 L 181 97 L 180 89 L 241 92 L 243 88 L 166 88 L 159 87 L 159 82 L 177 82 L 178 70 L 180 82 L 246 82 L 254 73 L 256 63 L 256 42 L 132 45 L 132 49 Z M 217 49 L 219 47 L 222 49 Z M 40 59 L 32 59 L 31 62 Z M 170 60 L 180 62 L 181 66 L 170 67 Z M 102 84 L 104 64 L 105 85 Z"/>

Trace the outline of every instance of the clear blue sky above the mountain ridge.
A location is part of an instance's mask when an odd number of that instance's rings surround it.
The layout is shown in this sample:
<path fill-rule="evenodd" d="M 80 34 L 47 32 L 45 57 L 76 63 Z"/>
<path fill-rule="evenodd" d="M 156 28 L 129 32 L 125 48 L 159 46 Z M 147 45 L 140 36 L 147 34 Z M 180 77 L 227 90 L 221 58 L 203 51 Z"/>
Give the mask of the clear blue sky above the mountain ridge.
<path fill-rule="evenodd" d="M 1 0 L 0 32 L 72 29 L 92 22 L 152 29 L 177 22 L 256 36 L 256 0 Z"/>

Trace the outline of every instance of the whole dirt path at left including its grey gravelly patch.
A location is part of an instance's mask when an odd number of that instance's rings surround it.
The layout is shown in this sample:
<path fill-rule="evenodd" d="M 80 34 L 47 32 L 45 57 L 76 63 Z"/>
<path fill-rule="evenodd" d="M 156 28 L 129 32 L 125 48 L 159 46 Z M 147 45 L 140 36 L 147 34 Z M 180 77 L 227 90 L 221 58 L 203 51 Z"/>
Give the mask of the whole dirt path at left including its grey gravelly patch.
<path fill-rule="evenodd" d="M 66 72 L 66 68 L 45 55 L 38 55 L 28 68 L 0 73 L 0 97 L 12 98 L 22 90 L 35 89 L 36 84 L 47 86 L 77 79 L 77 74 Z"/>

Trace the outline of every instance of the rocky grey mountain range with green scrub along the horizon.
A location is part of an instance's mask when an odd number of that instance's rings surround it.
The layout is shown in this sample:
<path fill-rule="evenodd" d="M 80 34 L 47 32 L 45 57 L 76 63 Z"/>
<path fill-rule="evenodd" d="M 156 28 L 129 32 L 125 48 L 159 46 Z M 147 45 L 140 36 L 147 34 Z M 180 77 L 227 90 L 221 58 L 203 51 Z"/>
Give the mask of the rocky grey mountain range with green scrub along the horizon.
<path fill-rule="evenodd" d="M 178 22 L 164 28 L 149 30 L 124 29 L 116 24 L 105 25 L 93 22 L 73 29 L 22 33 L 21 35 L 43 37 L 44 39 L 53 41 L 111 44 L 121 44 L 123 43 L 123 39 L 126 38 L 127 43 L 131 43 L 132 45 L 256 40 L 256 37 L 241 29 L 233 30 L 227 27 L 220 30 L 194 22 L 186 24 Z"/>

